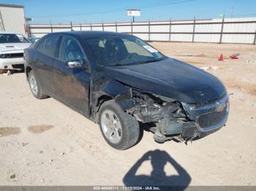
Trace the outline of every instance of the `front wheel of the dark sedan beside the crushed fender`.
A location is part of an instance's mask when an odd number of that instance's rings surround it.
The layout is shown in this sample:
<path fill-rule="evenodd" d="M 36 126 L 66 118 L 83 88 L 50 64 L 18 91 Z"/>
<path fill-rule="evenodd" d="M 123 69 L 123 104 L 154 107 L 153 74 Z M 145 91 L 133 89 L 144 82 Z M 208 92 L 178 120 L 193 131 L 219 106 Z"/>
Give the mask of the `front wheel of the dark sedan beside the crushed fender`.
<path fill-rule="evenodd" d="M 105 141 L 118 150 L 134 146 L 140 136 L 138 121 L 113 100 L 106 101 L 100 107 L 99 127 Z"/>

